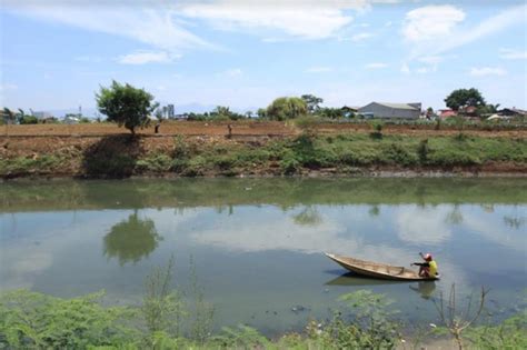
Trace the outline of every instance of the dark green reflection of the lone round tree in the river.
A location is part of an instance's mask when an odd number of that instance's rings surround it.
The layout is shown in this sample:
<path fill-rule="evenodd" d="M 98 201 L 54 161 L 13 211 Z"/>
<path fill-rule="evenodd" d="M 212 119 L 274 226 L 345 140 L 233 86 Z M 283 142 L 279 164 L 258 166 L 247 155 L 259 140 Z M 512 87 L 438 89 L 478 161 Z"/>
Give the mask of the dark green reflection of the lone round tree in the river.
<path fill-rule="evenodd" d="M 128 220 L 115 224 L 105 236 L 105 256 L 116 257 L 123 266 L 148 257 L 162 240 L 151 219 L 140 219 L 135 211 Z"/>

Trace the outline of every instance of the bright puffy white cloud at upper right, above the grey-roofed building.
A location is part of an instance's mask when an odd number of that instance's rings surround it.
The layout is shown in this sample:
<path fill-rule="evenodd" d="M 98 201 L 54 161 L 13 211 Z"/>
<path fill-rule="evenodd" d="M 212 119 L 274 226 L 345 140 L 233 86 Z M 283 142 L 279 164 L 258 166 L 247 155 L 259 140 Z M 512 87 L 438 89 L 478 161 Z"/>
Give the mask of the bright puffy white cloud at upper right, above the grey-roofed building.
<path fill-rule="evenodd" d="M 465 12 L 454 6 L 426 6 L 406 14 L 402 36 L 412 42 L 429 41 L 451 33 L 465 19 Z"/>

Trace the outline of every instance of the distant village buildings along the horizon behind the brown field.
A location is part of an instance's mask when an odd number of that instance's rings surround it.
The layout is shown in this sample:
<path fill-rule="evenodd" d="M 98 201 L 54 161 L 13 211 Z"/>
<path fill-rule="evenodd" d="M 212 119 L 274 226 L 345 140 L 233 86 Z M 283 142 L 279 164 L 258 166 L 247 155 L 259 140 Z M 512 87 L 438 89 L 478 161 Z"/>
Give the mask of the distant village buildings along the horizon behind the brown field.
<path fill-rule="evenodd" d="M 409 103 L 392 103 L 392 102 L 370 102 L 364 107 L 358 106 L 344 106 L 336 108 L 339 110 L 340 116 L 347 119 L 386 119 L 386 120 L 447 120 L 449 118 L 461 117 L 467 120 L 480 121 L 480 120 L 496 120 L 507 121 L 514 118 L 525 118 L 527 111 L 515 107 L 495 109 L 491 113 L 480 113 L 476 107 L 468 106 L 459 108 L 457 111 L 453 109 L 439 109 L 432 110 L 431 108 L 422 109 L 420 102 Z M 56 117 L 47 111 L 33 111 L 30 110 L 26 113 L 22 109 L 11 111 L 8 108 L 3 108 L 1 111 L 0 120 L 3 123 L 91 123 L 101 122 L 100 117 L 86 117 L 82 114 L 82 110 L 79 107 L 78 113 L 66 113 L 63 117 Z M 173 104 L 166 104 L 159 107 L 155 116 L 149 116 L 152 121 L 158 120 L 192 120 L 197 113 L 175 113 Z M 208 113 L 205 113 L 208 116 Z M 258 112 L 246 112 L 245 118 L 262 118 Z"/>

